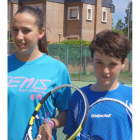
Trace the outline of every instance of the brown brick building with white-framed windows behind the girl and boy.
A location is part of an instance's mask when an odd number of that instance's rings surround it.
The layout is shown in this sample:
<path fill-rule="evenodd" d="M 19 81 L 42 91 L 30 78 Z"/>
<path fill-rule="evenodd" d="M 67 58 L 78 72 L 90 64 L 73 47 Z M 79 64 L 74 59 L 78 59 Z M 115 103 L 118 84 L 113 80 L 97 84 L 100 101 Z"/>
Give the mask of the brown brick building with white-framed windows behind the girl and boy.
<path fill-rule="evenodd" d="M 91 41 L 95 34 L 112 29 L 112 0 L 8 0 L 8 30 L 13 15 L 20 6 L 40 8 L 46 14 L 47 40 L 59 42 L 67 39 Z"/>

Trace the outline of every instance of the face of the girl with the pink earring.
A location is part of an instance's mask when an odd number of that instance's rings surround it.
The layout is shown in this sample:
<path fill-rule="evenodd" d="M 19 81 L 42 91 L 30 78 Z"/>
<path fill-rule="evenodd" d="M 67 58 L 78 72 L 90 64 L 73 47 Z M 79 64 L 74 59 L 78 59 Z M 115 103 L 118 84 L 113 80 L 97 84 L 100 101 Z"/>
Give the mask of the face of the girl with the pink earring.
<path fill-rule="evenodd" d="M 42 37 L 42 31 L 39 31 L 35 21 L 35 17 L 26 12 L 13 17 L 12 38 L 18 53 L 30 54 L 38 50 L 38 37 Z"/>

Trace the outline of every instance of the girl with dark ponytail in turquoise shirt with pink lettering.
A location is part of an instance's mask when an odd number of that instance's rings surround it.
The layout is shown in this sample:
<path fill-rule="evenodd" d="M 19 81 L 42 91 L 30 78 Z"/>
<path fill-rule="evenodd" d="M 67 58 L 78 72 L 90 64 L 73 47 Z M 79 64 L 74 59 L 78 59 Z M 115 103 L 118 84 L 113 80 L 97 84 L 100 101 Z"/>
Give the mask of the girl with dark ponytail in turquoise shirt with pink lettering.
<path fill-rule="evenodd" d="M 30 117 L 46 93 L 56 86 L 70 84 L 66 66 L 48 56 L 45 20 L 43 12 L 31 6 L 21 7 L 12 20 L 12 38 L 17 51 L 8 56 L 9 140 L 25 138 Z M 51 118 L 44 124 L 49 129 L 46 132 L 48 140 L 56 138 L 53 128 L 65 122 L 70 90 L 60 92 L 51 96 L 41 108 L 42 117 Z M 63 106 L 62 99 L 65 99 Z M 59 115 L 54 118 L 56 108 Z"/>

